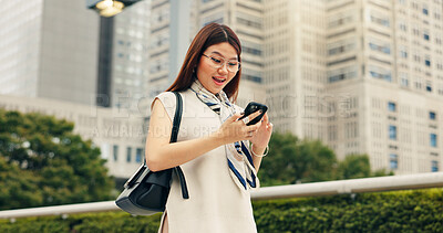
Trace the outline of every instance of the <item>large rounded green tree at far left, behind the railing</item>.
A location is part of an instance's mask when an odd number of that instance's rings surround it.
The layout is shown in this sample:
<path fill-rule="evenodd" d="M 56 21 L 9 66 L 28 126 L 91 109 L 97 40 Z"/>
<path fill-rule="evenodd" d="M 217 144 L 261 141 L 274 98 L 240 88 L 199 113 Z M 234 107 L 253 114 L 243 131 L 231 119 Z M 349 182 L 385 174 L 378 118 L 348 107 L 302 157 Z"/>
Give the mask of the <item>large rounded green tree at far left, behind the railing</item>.
<path fill-rule="evenodd" d="M 0 209 L 111 198 L 100 149 L 72 130 L 64 119 L 0 109 Z"/>

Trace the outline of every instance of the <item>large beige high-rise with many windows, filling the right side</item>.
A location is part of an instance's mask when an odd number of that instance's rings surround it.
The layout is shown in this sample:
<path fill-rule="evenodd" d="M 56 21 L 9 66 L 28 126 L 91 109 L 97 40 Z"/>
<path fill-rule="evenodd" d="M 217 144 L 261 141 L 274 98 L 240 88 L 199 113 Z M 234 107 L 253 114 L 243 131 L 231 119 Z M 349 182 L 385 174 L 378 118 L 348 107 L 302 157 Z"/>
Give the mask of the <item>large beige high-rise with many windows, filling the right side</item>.
<path fill-rule="evenodd" d="M 265 1 L 265 84 L 278 130 L 368 153 L 396 174 L 442 170 L 441 0 Z"/>

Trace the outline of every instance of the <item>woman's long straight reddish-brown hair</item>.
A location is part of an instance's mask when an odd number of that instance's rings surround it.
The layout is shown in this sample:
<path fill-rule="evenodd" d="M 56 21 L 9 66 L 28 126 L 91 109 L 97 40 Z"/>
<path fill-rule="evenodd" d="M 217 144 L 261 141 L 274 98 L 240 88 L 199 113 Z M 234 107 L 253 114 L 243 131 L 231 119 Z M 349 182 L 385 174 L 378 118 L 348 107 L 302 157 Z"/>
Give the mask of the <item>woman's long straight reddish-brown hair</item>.
<path fill-rule="evenodd" d="M 203 52 L 210 45 L 228 42 L 237 51 L 238 61 L 241 62 L 241 44 L 234 31 L 224 24 L 209 23 L 195 35 L 187 50 L 185 61 L 173 85 L 166 92 L 181 92 L 190 87 L 194 82 L 193 72 L 197 68 Z M 231 102 L 237 100 L 238 84 L 240 83 L 241 68 L 234 78 L 223 88 Z"/>

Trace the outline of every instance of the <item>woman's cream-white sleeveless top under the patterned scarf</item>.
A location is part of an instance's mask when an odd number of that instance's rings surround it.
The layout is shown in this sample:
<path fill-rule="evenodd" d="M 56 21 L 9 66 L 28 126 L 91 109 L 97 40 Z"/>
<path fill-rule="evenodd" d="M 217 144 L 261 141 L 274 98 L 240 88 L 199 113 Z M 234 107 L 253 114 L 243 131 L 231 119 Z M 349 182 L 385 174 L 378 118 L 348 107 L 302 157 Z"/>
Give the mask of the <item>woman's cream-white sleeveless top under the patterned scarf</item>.
<path fill-rule="evenodd" d="M 183 115 L 177 141 L 210 135 L 222 126 L 219 115 L 199 100 L 194 92 L 187 89 L 181 94 Z M 156 98 L 162 102 L 173 121 L 175 95 L 162 93 Z M 166 203 L 171 233 L 257 232 L 249 190 L 240 190 L 233 181 L 225 146 L 210 150 L 182 165 L 181 168 L 186 178 L 189 199 L 183 199 L 179 181 L 173 176 Z"/>

